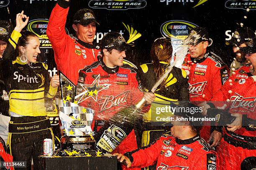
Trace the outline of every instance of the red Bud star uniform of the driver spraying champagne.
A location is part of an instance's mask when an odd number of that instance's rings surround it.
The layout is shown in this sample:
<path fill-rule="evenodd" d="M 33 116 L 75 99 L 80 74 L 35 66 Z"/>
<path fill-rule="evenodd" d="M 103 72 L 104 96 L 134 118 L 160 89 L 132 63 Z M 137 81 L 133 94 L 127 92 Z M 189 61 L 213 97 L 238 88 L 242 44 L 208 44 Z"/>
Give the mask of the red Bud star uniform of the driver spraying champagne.
<path fill-rule="evenodd" d="M 125 64 L 109 68 L 101 60 L 94 62 L 79 71 L 77 94 L 84 91 L 83 87 L 86 87 L 88 92 L 79 99 L 83 100 L 80 105 L 95 110 L 95 121 L 92 123 L 94 131 L 98 131 L 104 121 L 109 120 L 123 107 L 136 104 L 143 97 L 143 92 L 138 89 L 135 68 Z M 94 97 L 90 95 L 92 92 L 95 94 Z M 114 153 L 124 154 L 135 149 L 137 142 L 133 130 Z"/>

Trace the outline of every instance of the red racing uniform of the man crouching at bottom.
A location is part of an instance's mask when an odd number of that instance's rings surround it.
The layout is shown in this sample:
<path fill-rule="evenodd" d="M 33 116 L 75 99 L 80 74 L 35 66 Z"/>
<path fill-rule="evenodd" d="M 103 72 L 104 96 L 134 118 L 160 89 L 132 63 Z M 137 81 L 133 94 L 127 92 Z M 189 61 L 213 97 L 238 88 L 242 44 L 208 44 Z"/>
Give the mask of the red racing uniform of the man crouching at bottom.
<path fill-rule="evenodd" d="M 179 140 L 162 136 L 151 145 L 125 153 L 131 167 L 143 168 L 157 162 L 156 170 L 218 170 L 218 156 L 198 135 Z"/>

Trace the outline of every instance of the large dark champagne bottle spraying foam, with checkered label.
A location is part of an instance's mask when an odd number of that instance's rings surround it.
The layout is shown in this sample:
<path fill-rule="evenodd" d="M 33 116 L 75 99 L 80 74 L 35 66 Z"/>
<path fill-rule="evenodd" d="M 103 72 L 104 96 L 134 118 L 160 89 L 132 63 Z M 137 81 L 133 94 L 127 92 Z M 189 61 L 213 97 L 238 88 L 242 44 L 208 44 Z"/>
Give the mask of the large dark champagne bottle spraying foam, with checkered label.
<path fill-rule="evenodd" d="M 113 152 L 141 120 L 143 114 L 141 109 L 145 104 L 146 100 L 142 98 L 136 105 L 123 108 L 105 122 L 95 135 L 98 141 L 96 147 L 108 153 Z"/>

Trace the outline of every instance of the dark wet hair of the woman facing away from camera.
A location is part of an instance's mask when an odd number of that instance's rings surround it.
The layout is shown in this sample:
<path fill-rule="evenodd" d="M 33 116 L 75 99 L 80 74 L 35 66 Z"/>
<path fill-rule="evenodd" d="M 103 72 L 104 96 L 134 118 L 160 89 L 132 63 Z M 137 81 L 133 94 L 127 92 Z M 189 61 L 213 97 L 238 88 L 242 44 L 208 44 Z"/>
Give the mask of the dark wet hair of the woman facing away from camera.
<path fill-rule="evenodd" d="M 150 51 L 151 59 L 153 60 L 154 72 L 156 80 L 164 74 L 165 68 L 161 66 L 160 61 L 167 62 L 172 58 L 172 43 L 169 39 L 159 38 L 157 39 Z M 164 81 L 160 85 L 160 89 L 164 90 Z"/>

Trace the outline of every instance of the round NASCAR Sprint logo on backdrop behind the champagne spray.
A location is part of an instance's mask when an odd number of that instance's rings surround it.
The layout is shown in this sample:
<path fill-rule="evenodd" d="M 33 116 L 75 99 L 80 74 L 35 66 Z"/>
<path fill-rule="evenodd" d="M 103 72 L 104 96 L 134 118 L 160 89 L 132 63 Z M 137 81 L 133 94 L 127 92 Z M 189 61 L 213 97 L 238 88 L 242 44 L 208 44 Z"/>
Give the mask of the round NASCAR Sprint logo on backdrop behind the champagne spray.
<path fill-rule="evenodd" d="M 170 20 L 161 25 L 161 34 L 172 40 L 174 49 L 177 49 L 180 45 L 183 45 L 183 41 L 189 35 L 189 31 L 192 28 L 198 27 L 194 23 L 183 20 Z"/>

